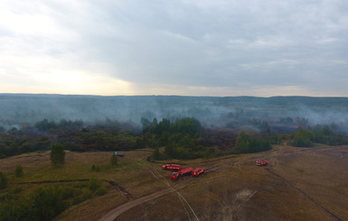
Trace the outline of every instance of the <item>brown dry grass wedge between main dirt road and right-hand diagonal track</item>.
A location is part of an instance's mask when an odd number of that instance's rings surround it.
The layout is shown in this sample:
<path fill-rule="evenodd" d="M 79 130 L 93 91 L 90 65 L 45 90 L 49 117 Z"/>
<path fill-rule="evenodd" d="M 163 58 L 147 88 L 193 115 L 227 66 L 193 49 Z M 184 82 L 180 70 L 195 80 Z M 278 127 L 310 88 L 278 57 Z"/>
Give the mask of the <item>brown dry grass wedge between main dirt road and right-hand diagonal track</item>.
<path fill-rule="evenodd" d="M 204 174 L 179 192 L 201 220 L 329 219 L 294 189 L 251 163 Z M 193 212 L 173 193 L 128 210 L 118 220 L 190 218 L 195 220 Z"/>

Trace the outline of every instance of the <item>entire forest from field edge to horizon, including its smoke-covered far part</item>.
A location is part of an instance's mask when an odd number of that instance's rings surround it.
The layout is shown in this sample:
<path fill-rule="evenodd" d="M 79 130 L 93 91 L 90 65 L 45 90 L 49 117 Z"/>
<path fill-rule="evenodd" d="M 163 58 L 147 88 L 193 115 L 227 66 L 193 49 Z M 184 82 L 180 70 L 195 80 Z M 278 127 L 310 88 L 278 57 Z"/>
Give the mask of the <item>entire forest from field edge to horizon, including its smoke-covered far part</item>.
<path fill-rule="evenodd" d="M 72 152 L 152 148 L 155 160 L 347 143 L 344 97 L 2 94 L 0 104 L 0 158 L 52 143 Z"/>

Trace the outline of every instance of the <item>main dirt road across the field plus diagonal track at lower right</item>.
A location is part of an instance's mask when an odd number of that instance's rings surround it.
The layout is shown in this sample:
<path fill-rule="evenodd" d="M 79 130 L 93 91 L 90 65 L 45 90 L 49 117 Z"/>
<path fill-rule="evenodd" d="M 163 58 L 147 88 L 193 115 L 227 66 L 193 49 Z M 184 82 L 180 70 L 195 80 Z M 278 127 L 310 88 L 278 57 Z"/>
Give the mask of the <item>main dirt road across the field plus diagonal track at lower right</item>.
<path fill-rule="evenodd" d="M 262 157 L 263 159 L 270 159 L 270 158 L 275 158 L 275 157 L 286 157 L 286 156 L 292 156 L 292 155 L 296 155 L 296 154 L 301 154 L 301 153 L 306 153 L 306 152 L 327 152 L 327 151 L 334 151 L 334 150 L 339 150 L 339 149 L 347 149 L 348 146 L 340 146 L 340 147 L 334 147 L 334 148 L 324 148 L 324 149 L 308 149 L 308 150 L 303 150 L 300 152 L 286 152 L 286 153 L 281 153 L 281 154 L 276 154 L 276 155 L 271 155 L 271 156 L 264 156 Z M 261 157 L 259 157 L 261 158 Z M 231 161 L 230 165 L 238 165 L 241 163 L 247 163 L 250 161 L 255 161 L 259 158 L 250 158 L 248 160 L 244 160 L 244 161 Z M 215 160 L 214 160 L 215 161 Z M 202 162 L 203 163 L 203 162 Z M 220 166 L 216 166 L 216 167 L 212 167 L 210 169 L 205 170 L 205 172 L 211 172 L 214 170 L 219 170 L 222 167 L 228 166 L 229 164 L 222 164 Z M 271 170 L 268 170 L 270 173 L 272 173 Z M 274 173 L 274 172 L 273 172 Z M 273 174 L 272 173 L 272 174 Z M 283 182 L 285 182 L 288 186 L 295 188 L 299 193 L 301 193 L 302 195 L 304 195 L 306 198 L 308 198 L 311 202 L 315 203 L 315 205 L 317 207 L 319 207 L 320 209 L 324 210 L 329 216 L 333 217 L 335 220 L 341 221 L 342 219 L 340 219 L 338 216 L 335 216 L 334 214 L 332 214 L 330 211 L 328 211 L 327 209 L 325 209 L 324 207 L 322 207 L 321 205 L 319 205 L 317 202 L 315 202 L 315 200 L 313 198 L 310 198 L 308 195 L 306 195 L 306 193 L 304 193 L 302 190 L 297 189 L 296 186 L 294 186 L 293 184 L 289 183 L 287 180 L 284 180 L 283 178 L 281 178 L 280 176 L 278 176 L 276 173 L 274 173 L 273 175 L 277 176 L 279 179 L 283 180 Z M 155 198 L 159 198 L 164 196 L 165 194 L 174 192 L 178 189 L 183 189 L 183 187 L 185 187 L 187 184 L 189 184 L 190 182 L 192 182 L 194 179 L 191 178 L 190 180 L 185 180 L 183 181 L 181 184 L 178 184 L 177 186 L 174 187 L 170 187 L 167 189 L 163 189 L 160 191 L 157 191 L 153 194 L 147 195 L 146 197 L 143 198 L 137 198 L 136 200 L 127 202 L 124 205 L 121 205 L 119 207 L 116 207 L 114 209 L 112 209 L 111 211 L 108 212 L 108 214 L 106 216 L 103 216 L 100 220 L 101 221 L 113 221 L 115 220 L 119 215 L 121 215 L 123 212 L 127 211 L 128 209 L 132 208 L 132 207 L 136 207 L 140 204 L 143 204 L 147 201 L 153 200 Z"/>

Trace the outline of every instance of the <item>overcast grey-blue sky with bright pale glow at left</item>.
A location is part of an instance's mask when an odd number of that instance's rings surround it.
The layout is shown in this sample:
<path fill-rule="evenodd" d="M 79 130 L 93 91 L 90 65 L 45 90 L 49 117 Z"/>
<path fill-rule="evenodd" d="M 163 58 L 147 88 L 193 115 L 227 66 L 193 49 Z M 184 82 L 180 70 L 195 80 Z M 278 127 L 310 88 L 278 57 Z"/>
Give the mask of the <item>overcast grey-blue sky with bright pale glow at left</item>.
<path fill-rule="evenodd" d="M 346 0 L 0 0 L 0 93 L 348 96 Z"/>

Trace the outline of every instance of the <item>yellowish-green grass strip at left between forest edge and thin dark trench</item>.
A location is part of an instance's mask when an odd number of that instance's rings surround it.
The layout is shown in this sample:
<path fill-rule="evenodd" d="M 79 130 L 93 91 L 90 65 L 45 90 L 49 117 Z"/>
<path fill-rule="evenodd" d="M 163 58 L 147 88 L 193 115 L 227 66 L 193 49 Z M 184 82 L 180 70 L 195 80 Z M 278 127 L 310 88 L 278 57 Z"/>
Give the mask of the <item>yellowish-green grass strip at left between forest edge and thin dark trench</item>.
<path fill-rule="evenodd" d="M 137 161 L 145 161 L 148 152 L 127 152 L 124 158 L 118 158 L 118 167 L 110 165 L 112 152 L 66 152 L 65 164 L 52 167 L 50 152 L 27 153 L 0 160 L 0 170 L 9 174 L 10 180 L 77 180 L 95 177 L 100 180 L 127 180 L 132 176 L 121 171 L 138 170 Z M 23 178 L 14 178 L 15 165 L 24 168 Z M 100 171 L 92 171 L 92 164 L 99 165 Z"/>

